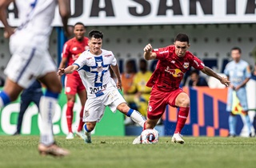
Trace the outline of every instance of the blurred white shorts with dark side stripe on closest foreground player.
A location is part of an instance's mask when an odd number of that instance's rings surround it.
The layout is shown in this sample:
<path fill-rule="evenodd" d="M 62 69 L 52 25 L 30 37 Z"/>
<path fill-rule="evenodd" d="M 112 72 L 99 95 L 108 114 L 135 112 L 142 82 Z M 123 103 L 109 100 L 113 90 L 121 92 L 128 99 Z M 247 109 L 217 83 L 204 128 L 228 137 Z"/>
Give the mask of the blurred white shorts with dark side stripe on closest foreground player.
<path fill-rule="evenodd" d="M 48 72 L 56 72 L 56 64 L 47 49 L 10 45 L 12 57 L 5 74 L 22 88 L 28 88 L 34 80 Z"/>

